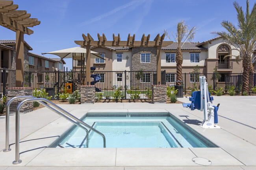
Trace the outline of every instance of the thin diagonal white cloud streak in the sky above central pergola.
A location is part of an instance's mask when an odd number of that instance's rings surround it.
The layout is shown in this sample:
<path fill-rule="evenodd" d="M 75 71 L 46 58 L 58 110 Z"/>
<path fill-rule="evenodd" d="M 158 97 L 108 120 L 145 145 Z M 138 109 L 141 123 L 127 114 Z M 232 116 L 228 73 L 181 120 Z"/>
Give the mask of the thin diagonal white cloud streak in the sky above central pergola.
<path fill-rule="evenodd" d="M 99 20 L 102 20 L 102 19 L 110 16 L 110 15 L 113 15 L 113 14 L 117 13 L 121 9 L 125 9 L 125 8 L 131 7 L 131 6 L 133 6 L 133 7 L 137 6 L 137 5 L 141 4 L 140 2 L 145 2 L 145 0 L 134 0 L 132 2 L 129 2 L 127 4 L 122 5 L 120 7 L 117 7 L 117 8 L 115 8 L 115 9 L 113 9 L 113 10 L 107 12 L 107 13 L 104 13 L 102 15 L 96 16 L 95 18 L 91 18 L 90 20 L 87 20 L 87 21 L 81 23 L 80 26 L 86 26 L 86 25 L 92 24 L 94 22 L 97 22 Z"/>

